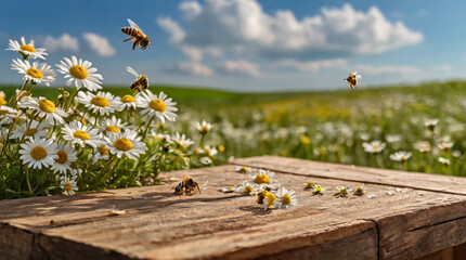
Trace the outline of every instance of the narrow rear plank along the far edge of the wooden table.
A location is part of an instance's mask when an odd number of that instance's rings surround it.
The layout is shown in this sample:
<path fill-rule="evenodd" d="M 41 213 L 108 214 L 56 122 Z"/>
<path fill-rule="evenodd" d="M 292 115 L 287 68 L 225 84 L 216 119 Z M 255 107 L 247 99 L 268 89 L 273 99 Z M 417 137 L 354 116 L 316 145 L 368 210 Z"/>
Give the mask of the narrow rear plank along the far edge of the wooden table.
<path fill-rule="evenodd" d="M 308 177 L 329 178 L 371 184 L 387 184 L 398 187 L 466 195 L 466 190 L 464 188 L 466 186 L 466 178 L 463 177 L 376 169 L 312 160 L 297 160 L 279 156 L 240 158 L 235 159 L 233 164 Z"/>

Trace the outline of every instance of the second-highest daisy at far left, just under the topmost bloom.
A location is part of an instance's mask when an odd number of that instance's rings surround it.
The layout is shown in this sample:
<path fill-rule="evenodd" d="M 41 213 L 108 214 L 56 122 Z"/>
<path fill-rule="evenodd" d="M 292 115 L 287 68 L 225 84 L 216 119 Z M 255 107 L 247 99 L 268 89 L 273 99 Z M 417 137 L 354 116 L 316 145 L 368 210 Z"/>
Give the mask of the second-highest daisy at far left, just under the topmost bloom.
<path fill-rule="evenodd" d="M 20 58 L 13 60 L 13 64 L 11 64 L 11 69 L 17 70 L 20 74 L 24 74 L 24 80 L 31 80 L 34 83 L 44 82 L 46 86 L 50 86 L 50 82 L 55 81 L 55 73 L 52 69 L 52 66 L 47 65 L 46 63 L 34 62 L 33 64 L 29 61 L 22 61 Z"/>

